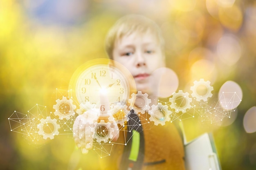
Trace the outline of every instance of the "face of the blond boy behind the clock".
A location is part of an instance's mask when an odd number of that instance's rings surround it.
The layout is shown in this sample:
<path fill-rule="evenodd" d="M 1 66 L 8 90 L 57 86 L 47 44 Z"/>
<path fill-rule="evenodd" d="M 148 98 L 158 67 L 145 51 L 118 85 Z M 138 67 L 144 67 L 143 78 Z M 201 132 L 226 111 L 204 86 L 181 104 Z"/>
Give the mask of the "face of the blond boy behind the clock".
<path fill-rule="evenodd" d="M 157 91 L 150 79 L 153 71 L 164 67 L 164 55 L 154 34 L 132 33 L 115 42 L 113 60 L 123 64 L 135 79 L 137 91 L 153 95 Z"/>

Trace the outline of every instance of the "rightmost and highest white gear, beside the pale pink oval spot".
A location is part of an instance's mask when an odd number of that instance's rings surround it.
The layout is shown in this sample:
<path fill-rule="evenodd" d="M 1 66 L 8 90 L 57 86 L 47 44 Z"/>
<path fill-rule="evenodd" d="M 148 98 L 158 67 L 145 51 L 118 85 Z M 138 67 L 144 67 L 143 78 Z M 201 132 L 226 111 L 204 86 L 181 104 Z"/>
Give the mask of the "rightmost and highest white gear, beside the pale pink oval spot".
<path fill-rule="evenodd" d="M 198 94 L 198 86 L 205 86 L 207 89 L 207 92 L 204 95 Z M 213 87 L 210 86 L 209 80 L 207 82 L 204 81 L 204 79 L 200 79 L 200 81 L 194 81 L 194 86 L 191 86 L 190 90 L 193 92 L 191 95 L 192 97 L 195 97 L 197 101 L 203 100 L 204 102 L 207 101 L 208 97 L 211 97 L 211 91 L 213 91 Z"/>

